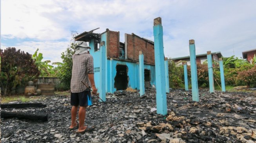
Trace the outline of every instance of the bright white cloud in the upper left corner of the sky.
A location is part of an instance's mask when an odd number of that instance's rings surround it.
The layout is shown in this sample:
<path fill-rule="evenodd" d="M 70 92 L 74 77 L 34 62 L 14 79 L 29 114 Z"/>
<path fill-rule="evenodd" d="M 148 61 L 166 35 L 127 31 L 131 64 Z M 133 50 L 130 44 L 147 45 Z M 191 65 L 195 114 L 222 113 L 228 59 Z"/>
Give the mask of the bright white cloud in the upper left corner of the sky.
<path fill-rule="evenodd" d="M 1 32 L 4 38 L 35 38 L 56 40 L 66 38 L 69 32 L 44 16 L 44 13 L 57 13 L 58 7 L 48 7 L 51 0 L 3 0 L 1 12 Z"/>

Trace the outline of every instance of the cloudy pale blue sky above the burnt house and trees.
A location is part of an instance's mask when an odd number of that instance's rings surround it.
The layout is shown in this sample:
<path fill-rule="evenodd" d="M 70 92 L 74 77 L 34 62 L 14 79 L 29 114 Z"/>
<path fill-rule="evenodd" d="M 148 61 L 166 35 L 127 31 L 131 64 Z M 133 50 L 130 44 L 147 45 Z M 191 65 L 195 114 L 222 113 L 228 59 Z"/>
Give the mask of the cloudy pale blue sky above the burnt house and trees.
<path fill-rule="evenodd" d="M 71 33 L 108 28 L 154 41 L 153 20 L 161 17 L 165 57 L 221 52 L 242 57 L 256 48 L 256 0 L 1 0 L 1 49 L 15 47 L 44 60 L 62 62 Z"/>

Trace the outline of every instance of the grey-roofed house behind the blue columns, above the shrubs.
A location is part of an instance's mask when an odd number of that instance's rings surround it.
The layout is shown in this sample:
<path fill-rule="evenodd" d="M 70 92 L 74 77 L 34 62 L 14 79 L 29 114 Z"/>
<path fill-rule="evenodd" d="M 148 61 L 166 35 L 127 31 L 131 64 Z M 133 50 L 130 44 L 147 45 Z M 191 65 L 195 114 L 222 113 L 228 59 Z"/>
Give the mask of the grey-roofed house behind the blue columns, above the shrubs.
<path fill-rule="evenodd" d="M 211 53 L 211 55 L 212 55 L 212 60 L 215 60 L 215 61 L 218 61 L 219 58 L 222 57 L 221 52 L 214 52 L 214 53 Z M 172 58 L 171 60 L 177 63 L 177 65 L 181 65 L 182 61 L 187 61 L 187 65 L 190 65 L 190 56 L 176 57 L 176 58 Z M 207 54 L 196 55 L 196 63 L 203 64 L 203 62 L 205 61 L 207 61 Z"/>

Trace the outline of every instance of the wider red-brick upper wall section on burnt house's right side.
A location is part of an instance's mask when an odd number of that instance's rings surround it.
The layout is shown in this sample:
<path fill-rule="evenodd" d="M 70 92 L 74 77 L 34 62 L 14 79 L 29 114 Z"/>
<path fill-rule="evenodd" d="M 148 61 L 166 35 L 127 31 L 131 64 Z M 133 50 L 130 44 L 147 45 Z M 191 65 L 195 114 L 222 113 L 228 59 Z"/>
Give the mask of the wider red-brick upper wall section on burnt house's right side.
<path fill-rule="evenodd" d="M 127 41 L 127 59 L 139 61 L 139 52 L 144 55 L 144 62 L 154 64 L 154 45 L 147 43 L 134 34 L 126 34 Z"/>

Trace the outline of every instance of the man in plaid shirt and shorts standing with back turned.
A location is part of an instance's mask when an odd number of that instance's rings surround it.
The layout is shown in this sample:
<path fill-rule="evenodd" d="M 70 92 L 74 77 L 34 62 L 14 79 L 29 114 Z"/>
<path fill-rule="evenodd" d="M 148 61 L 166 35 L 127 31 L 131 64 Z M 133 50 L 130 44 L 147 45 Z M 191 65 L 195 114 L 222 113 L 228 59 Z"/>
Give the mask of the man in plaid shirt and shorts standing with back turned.
<path fill-rule="evenodd" d="M 96 86 L 94 84 L 94 68 L 93 68 L 93 56 L 89 54 L 87 46 L 84 41 L 78 41 L 78 45 L 75 47 L 75 53 L 73 55 L 73 67 L 71 78 L 71 126 L 70 130 L 77 129 L 76 133 L 84 133 L 93 130 L 91 126 L 85 126 L 85 113 L 86 107 L 92 105 L 91 91 L 81 81 L 84 81 L 87 86 L 93 89 L 93 94 L 97 93 Z M 79 107 L 78 117 L 79 123 L 76 122 L 76 113 Z"/>

